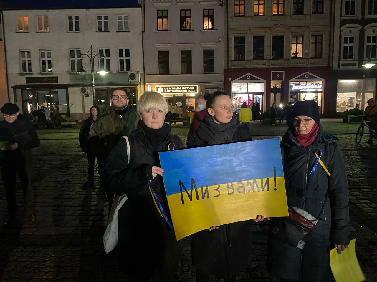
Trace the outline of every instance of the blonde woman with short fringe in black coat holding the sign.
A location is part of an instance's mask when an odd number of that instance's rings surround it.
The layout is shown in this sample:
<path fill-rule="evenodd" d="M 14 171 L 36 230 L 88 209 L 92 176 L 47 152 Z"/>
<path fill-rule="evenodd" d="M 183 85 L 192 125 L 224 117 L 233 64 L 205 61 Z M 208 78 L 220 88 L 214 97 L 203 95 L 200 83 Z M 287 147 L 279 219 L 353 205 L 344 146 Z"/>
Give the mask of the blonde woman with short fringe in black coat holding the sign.
<path fill-rule="evenodd" d="M 184 145 L 164 123 L 168 105 L 161 94 L 145 92 L 137 112 L 138 127 L 127 136 L 129 157 L 127 141 L 121 138 L 104 170 L 107 189 L 128 197 L 118 213 L 119 267 L 129 273 L 131 281 L 170 282 L 182 256 L 183 242 L 176 241 L 174 231 L 156 209 L 149 185 L 171 222 L 162 182 L 164 170 L 156 165 L 156 156 L 159 151 Z"/>

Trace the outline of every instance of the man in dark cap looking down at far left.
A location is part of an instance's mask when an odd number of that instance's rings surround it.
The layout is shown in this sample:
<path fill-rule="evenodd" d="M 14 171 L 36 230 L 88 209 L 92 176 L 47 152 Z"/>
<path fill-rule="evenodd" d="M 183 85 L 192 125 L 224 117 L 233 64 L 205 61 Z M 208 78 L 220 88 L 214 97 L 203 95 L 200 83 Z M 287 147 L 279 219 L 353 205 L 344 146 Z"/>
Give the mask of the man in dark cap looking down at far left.
<path fill-rule="evenodd" d="M 32 155 L 31 149 L 38 147 L 40 141 L 28 117 L 20 114 L 15 104 L 5 104 L 0 111 L 4 120 L 0 122 L 0 149 L 4 154 L 0 160 L 3 183 L 8 204 L 8 218 L 4 227 L 11 227 L 16 221 L 16 175 L 18 173 L 24 194 L 26 221 L 35 220 L 33 190 L 31 186 Z M 3 148 L 4 147 L 4 148 Z"/>

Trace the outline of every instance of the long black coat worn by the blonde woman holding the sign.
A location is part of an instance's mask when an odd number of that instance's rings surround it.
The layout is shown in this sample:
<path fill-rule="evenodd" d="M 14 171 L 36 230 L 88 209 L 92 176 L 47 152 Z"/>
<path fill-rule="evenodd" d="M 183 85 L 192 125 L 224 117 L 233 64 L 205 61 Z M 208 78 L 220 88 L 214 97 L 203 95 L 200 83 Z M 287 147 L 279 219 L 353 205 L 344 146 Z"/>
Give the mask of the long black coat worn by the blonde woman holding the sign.
<path fill-rule="evenodd" d="M 170 129 L 168 124 L 164 126 Z M 171 143 L 175 149 L 184 148 L 184 145 L 178 136 L 169 133 L 155 151 L 140 125 L 128 138 L 129 166 L 127 167 L 127 143 L 121 138 L 107 158 L 104 183 L 113 194 L 126 194 L 128 197 L 118 213 L 117 248 L 120 270 L 126 272 L 138 269 L 145 273 L 153 269 L 151 266 L 162 267 L 166 254 L 164 236 L 167 232 L 173 232 L 159 215 L 148 188 L 148 182 L 153 178 L 152 166 L 159 165 L 156 152 L 167 150 Z M 157 175 L 152 180 L 152 188 L 170 219 L 161 176 Z"/>

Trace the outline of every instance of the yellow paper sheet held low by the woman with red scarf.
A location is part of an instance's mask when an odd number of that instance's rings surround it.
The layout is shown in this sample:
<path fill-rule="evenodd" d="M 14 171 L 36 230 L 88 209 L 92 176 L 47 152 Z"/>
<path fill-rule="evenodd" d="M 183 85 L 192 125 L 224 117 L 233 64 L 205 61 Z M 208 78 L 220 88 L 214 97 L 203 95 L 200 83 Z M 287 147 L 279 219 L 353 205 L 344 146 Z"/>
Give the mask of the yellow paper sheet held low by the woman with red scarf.
<path fill-rule="evenodd" d="M 361 282 L 365 280 L 356 258 L 356 239 L 339 255 L 336 248 L 330 251 L 330 266 L 336 282 Z"/>

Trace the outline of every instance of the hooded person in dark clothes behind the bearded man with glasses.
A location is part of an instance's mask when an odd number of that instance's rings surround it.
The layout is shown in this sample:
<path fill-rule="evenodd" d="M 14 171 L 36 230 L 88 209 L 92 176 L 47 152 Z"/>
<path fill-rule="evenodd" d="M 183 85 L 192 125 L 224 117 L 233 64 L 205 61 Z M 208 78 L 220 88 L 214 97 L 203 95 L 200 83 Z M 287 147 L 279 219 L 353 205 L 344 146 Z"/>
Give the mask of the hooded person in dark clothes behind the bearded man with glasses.
<path fill-rule="evenodd" d="M 92 150 L 90 150 L 89 142 L 88 142 L 88 135 L 90 126 L 92 123 L 97 120 L 97 118 L 101 115 L 100 107 L 98 106 L 91 106 L 89 109 L 90 117 L 83 121 L 81 124 L 80 132 L 78 133 L 78 139 L 80 141 L 81 150 L 86 153 L 86 157 L 88 159 L 88 180 L 84 183 L 84 188 L 91 188 L 94 185 L 94 154 Z M 98 174 L 102 174 L 100 172 L 102 166 L 98 164 Z"/>

